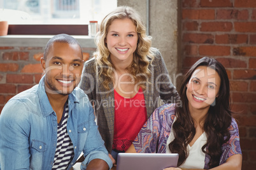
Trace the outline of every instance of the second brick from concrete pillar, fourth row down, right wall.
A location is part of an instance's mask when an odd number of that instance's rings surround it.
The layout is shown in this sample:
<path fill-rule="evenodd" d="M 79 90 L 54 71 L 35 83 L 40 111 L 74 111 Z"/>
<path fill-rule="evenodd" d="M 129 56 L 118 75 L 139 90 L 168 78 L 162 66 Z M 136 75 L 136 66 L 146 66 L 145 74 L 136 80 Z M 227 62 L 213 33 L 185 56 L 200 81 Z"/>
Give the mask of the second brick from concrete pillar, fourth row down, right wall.
<path fill-rule="evenodd" d="M 215 41 L 217 44 L 243 44 L 248 42 L 246 34 L 222 34 L 216 35 Z"/>

